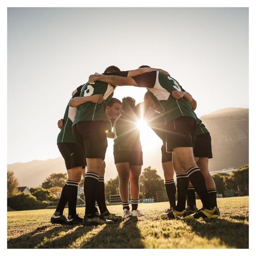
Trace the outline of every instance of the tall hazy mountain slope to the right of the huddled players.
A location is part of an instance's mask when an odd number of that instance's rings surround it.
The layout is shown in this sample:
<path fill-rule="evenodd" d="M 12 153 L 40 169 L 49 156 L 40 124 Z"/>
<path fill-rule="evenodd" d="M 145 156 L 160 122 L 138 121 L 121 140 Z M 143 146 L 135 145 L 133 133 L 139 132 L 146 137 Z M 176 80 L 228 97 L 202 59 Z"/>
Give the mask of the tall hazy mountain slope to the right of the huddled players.
<path fill-rule="evenodd" d="M 212 137 L 210 171 L 249 163 L 249 109 L 225 108 L 201 116 L 201 120 Z"/>

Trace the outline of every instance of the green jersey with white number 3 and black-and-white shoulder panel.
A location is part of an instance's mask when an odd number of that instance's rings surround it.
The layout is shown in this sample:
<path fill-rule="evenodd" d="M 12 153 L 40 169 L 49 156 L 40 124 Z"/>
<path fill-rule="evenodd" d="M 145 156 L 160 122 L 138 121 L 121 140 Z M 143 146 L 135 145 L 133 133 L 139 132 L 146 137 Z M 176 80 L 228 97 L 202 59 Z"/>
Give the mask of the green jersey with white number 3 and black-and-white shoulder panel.
<path fill-rule="evenodd" d="M 180 116 L 191 116 L 196 120 L 196 115 L 186 99 L 172 97 L 172 91 L 181 91 L 180 84 L 174 78 L 159 71 L 144 73 L 132 78 L 137 82 L 138 87 L 146 87 L 152 99 L 157 101 L 159 111 L 164 113 L 165 123 Z"/>

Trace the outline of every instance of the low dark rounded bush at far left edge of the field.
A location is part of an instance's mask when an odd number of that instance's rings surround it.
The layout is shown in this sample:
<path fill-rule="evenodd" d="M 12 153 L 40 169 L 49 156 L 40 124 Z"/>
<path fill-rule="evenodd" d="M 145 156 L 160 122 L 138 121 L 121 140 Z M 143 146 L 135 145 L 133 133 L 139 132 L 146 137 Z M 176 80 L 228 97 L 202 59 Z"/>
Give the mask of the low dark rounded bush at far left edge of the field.
<path fill-rule="evenodd" d="M 44 209 L 48 206 L 47 201 L 40 202 L 35 196 L 20 193 L 18 195 L 12 196 L 8 200 L 8 206 L 17 211 L 19 210 L 35 210 Z"/>

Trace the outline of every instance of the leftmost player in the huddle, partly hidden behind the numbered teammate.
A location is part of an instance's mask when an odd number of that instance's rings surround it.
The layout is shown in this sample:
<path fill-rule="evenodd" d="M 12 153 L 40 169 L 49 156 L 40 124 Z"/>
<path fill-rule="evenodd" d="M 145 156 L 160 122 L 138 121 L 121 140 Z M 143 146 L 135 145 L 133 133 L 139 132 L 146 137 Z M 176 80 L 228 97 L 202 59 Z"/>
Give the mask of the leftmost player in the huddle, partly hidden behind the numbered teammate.
<path fill-rule="evenodd" d="M 79 96 L 81 87 L 73 92 L 73 97 Z M 87 96 L 86 102 L 100 104 L 103 101 L 101 95 Z M 72 136 L 72 123 L 76 115 L 76 108 L 67 105 L 63 121 L 65 125 L 61 128 L 57 138 L 58 149 L 65 160 L 67 168 L 67 183 L 63 186 L 61 197 L 55 212 L 52 214 L 52 224 L 81 224 L 82 218 L 76 213 L 76 199 L 79 181 L 81 180 L 82 169 L 85 166 L 85 157 L 79 145 Z M 59 122 L 58 122 L 59 123 Z M 58 124 L 59 125 L 59 124 Z M 63 210 L 68 202 L 68 217 L 63 215 Z"/>

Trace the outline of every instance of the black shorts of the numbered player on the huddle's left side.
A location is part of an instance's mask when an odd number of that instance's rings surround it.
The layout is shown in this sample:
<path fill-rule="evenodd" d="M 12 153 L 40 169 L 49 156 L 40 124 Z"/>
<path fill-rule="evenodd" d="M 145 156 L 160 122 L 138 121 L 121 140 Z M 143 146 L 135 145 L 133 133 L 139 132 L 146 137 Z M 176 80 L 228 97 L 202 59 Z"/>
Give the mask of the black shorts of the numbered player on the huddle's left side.
<path fill-rule="evenodd" d="M 83 149 L 86 158 L 105 159 L 108 140 L 105 121 L 81 121 L 72 126 L 73 137 Z"/>

